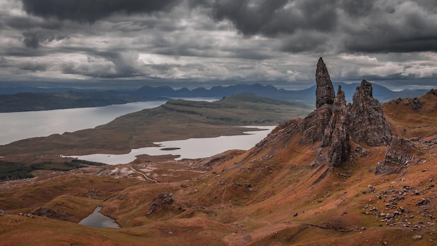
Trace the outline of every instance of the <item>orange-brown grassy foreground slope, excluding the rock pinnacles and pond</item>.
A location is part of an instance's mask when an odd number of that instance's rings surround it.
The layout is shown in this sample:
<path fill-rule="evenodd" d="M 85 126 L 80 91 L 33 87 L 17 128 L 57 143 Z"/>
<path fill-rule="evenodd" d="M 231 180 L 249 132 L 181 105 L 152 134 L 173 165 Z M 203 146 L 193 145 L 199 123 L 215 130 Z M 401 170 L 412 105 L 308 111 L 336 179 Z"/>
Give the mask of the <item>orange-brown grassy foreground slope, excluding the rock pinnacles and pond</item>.
<path fill-rule="evenodd" d="M 417 134 L 435 140 L 436 97 L 427 95 L 421 100 L 425 101 L 422 110 L 387 103 L 385 114 L 395 133 L 407 129 L 408 137 Z M 272 145 L 236 156 L 193 179 L 151 184 L 136 179 L 75 175 L 1 191 L 0 208 L 15 215 L 0 217 L 0 240 L 6 245 L 21 241 L 22 245 L 383 245 L 384 241 L 389 245 L 429 245 L 429 240 L 436 241 L 432 231 L 437 229 L 433 224 L 437 189 L 431 186 L 436 184 L 435 147 L 424 151 L 422 159 L 426 162 L 406 168 L 406 175 L 374 175 L 373 168 L 383 160 L 386 147 L 363 145 L 370 151 L 366 157 L 353 152 L 348 161 L 331 172 L 325 167 L 309 168 L 318 147 L 299 146 L 298 138 L 279 138 Z M 150 175 L 154 172 L 158 171 Z M 161 181 L 159 176 L 155 178 Z M 112 187 L 113 182 L 118 182 L 117 186 Z M 397 208 L 386 209 L 385 203 L 406 185 L 412 189 L 403 194 Z M 87 198 L 89 189 L 101 190 L 102 196 L 98 200 Z M 413 190 L 420 195 L 412 194 Z M 54 195 L 43 196 L 46 191 Z M 148 215 L 154 197 L 163 192 L 172 193 L 175 202 L 161 205 Z M 378 194 L 385 195 L 378 199 Z M 36 196 L 43 200 L 36 200 Z M 419 198 L 431 202 L 417 206 Z M 84 210 L 91 211 L 97 204 L 103 205 L 103 212 L 116 218 L 123 229 L 92 229 L 16 215 L 47 205 L 78 219 Z M 381 218 L 363 213 L 373 206 L 380 212 L 403 207 L 402 216 L 408 215 L 411 227 L 386 225 Z M 422 223 L 426 229 L 413 227 Z M 415 235 L 423 238 L 413 240 Z M 45 241 L 48 243 L 38 243 L 41 238 L 49 238 Z"/>

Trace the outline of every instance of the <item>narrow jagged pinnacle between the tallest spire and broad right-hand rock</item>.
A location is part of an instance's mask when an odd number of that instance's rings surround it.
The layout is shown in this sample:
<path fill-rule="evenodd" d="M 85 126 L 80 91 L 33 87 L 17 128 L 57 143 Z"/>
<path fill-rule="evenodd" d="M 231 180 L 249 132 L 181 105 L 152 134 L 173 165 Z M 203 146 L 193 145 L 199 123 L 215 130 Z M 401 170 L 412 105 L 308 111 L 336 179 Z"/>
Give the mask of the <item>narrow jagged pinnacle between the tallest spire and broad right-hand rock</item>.
<path fill-rule="evenodd" d="M 334 99 L 332 111 L 329 124 L 324 131 L 320 150 L 316 154 L 312 166 L 320 164 L 340 166 L 342 161 L 348 159 L 350 153 L 348 110 L 341 86 L 339 86 L 337 96 Z"/>

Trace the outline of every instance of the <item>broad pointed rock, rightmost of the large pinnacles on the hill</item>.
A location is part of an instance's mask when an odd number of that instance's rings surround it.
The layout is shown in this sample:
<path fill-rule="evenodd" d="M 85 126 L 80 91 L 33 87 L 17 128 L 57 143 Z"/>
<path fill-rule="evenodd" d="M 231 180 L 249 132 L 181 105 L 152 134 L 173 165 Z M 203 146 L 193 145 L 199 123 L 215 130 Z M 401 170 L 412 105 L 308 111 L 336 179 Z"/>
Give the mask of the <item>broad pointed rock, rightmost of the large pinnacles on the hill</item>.
<path fill-rule="evenodd" d="M 353 95 L 350 107 L 350 138 L 369 146 L 390 145 L 392 130 L 385 119 L 383 107 L 373 98 L 371 82 L 362 80 Z"/>

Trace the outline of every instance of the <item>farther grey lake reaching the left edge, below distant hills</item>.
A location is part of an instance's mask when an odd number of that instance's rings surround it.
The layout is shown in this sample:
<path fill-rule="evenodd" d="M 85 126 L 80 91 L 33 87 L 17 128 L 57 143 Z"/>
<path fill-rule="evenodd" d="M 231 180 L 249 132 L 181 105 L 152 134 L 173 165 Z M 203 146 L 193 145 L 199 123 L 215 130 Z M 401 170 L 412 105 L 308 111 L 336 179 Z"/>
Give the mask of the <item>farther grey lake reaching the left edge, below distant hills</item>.
<path fill-rule="evenodd" d="M 211 98 L 186 99 L 191 101 L 216 101 Z M 0 113 L 0 145 L 24 138 L 49 136 L 54 133 L 89 129 L 111 122 L 115 118 L 156 108 L 166 101 L 145 101 L 95 108 L 68 108 L 59 110 Z"/>

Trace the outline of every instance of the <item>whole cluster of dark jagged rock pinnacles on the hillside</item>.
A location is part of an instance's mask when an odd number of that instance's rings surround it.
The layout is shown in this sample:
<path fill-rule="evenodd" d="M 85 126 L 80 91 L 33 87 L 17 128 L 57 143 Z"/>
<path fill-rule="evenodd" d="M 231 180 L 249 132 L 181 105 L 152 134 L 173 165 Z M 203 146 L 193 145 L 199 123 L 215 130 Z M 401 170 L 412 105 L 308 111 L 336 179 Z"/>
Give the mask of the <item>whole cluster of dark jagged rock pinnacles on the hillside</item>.
<path fill-rule="evenodd" d="M 333 98 L 332 82 L 320 58 L 316 84 L 316 110 L 302 120 L 299 140 L 299 143 L 321 141 L 311 166 L 340 166 L 350 154 L 350 140 L 369 146 L 390 145 L 390 124 L 385 120 L 382 106 L 373 98 L 370 82 L 363 80 L 353 95 L 353 104 L 346 105 L 341 87 Z"/>

